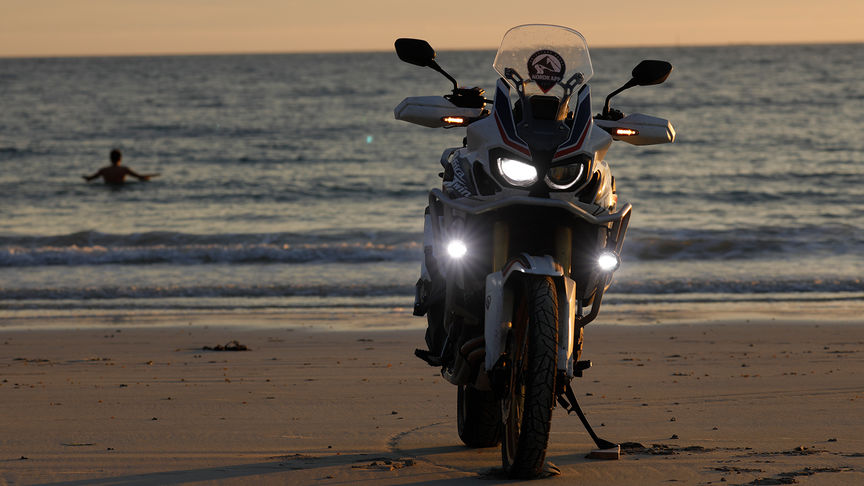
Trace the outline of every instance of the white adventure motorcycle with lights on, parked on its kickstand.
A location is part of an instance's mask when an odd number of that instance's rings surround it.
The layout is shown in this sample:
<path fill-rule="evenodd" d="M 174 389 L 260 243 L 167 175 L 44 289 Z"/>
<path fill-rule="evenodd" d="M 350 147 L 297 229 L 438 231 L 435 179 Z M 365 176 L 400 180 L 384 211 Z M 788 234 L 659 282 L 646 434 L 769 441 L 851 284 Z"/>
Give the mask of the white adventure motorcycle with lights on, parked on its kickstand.
<path fill-rule="evenodd" d="M 406 98 L 396 119 L 467 129 L 462 146 L 441 156 L 442 187 L 429 192 L 414 305 L 428 319 L 428 350 L 415 354 L 458 386 L 460 439 L 500 443 L 508 476 L 536 477 L 557 402 L 582 419 L 595 453 L 617 458 L 620 448 L 597 437 L 571 386 L 591 366 L 580 360 L 583 328 L 621 263 L 630 220 L 604 157 L 613 141 L 670 143 L 675 130 L 609 103 L 625 89 L 664 82 L 672 65 L 642 61 L 592 116 L 593 68 L 575 30 L 507 31 L 491 100 L 481 88 L 460 88 L 428 42 L 402 38 L 395 48 L 401 60 L 453 83 L 443 97 Z"/>

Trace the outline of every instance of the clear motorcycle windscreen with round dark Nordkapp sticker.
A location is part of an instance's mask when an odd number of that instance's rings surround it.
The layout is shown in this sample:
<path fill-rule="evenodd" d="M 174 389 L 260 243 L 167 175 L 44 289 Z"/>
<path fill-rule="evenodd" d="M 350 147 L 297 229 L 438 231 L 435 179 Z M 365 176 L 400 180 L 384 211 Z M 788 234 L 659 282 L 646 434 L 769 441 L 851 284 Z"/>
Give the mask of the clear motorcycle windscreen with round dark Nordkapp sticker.
<path fill-rule="evenodd" d="M 588 43 L 582 34 L 558 25 L 529 24 L 504 34 L 492 64 L 495 71 L 517 90 L 507 76 L 512 69 L 522 78 L 526 96 L 564 94 L 562 84 L 572 83 L 573 92 L 591 79 L 594 69 Z"/>

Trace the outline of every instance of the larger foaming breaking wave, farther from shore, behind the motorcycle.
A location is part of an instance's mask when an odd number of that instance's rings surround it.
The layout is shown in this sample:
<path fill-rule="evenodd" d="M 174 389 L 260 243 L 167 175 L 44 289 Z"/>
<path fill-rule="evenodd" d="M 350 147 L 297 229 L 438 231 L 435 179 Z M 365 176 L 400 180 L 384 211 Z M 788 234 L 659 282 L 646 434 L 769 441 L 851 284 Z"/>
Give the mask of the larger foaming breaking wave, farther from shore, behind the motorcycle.
<path fill-rule="evenodd" d="M 199 235 L 85 231 L 59 236 L 0 237 L 0 268 L 80 265 L 419 262 L 422 236 L 411 232 Z M 734 231 L 633 230 L 627 261 L 791 259 L 796 255 L 857 255 L 854 228 L 753 228 Z"/>

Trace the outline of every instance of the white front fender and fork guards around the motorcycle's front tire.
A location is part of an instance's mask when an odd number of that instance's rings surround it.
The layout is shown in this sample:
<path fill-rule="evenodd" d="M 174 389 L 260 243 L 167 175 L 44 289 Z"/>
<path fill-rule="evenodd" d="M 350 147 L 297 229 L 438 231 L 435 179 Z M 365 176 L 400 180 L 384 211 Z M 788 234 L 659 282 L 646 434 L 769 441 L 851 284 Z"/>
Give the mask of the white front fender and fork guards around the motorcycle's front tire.
<path fill-rule="evenodd" d="M 484 338 L 486 341 L 485 366 L 491 370 L 504 352 L 507 333 L 513 322 L 514 297 L 510 286 L 516 274 L 547 275 L 555 279 L 558 292 L 558 370 L 572 378 L 573 341 L 575 336 L 576 282 L 564 275 L 558 262 L 549 255 L 521 254 L 505 265 L 503 270 L 486 276 L 486 307 Z"/>

